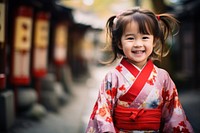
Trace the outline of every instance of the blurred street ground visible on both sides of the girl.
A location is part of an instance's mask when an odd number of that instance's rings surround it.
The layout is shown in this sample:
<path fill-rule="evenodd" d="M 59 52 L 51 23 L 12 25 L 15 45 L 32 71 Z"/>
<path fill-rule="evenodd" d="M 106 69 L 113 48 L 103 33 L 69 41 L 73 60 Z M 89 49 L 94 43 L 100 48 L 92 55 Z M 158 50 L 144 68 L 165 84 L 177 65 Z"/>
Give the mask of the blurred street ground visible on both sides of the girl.
<path fill-rule="evenodd" d="M 86 82 L 73 83 L 72 94 L 58 113 L 48 112 L 40 121 L 17 118 L 7 133 L 84 133 L 98 89 L 106 72 L 112 67 L 91 67 Z M 200 132 L 200 92 L 179 93 L 181 103 L 196 133 Z"/>

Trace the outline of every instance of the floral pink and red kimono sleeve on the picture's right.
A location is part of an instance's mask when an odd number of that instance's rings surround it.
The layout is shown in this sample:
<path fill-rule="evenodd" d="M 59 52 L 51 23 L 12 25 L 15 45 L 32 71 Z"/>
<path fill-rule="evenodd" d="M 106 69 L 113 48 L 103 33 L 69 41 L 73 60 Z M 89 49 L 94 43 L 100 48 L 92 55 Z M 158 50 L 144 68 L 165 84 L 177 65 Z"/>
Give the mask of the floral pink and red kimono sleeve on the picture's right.
<path fill-rule="evenodd" d="M 162 109 L 163 132 L 193 133 L 185 112 L 180 103 L 176 86 L 169 74 L 164 72 L 164 106 Z"/>

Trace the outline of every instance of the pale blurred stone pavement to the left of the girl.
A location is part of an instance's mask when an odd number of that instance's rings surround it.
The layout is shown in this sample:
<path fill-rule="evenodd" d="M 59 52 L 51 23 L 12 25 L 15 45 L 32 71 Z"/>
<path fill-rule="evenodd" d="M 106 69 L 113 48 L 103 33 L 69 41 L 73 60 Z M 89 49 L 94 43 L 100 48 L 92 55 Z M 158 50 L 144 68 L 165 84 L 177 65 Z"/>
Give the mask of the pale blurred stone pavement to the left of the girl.
<path fill-rule="evenodd" d="M 85 82 L 72 83 L 72 96 L 58 112 L 47 112 L 41 120 L 17 117 L 8 131 L 0 133 L 84 133 L 94 102 L 98 85 L 107 69 L 92 69 L 90 78 Z"/>

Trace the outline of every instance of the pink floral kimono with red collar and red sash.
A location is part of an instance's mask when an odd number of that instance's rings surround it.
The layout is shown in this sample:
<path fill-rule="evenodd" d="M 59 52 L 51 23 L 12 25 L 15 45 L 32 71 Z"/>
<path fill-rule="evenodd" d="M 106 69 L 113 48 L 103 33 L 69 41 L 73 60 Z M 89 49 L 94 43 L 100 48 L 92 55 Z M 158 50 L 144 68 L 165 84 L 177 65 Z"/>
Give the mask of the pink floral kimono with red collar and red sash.
<path fill-rule="evenodd" d="M 101 84 L 86 133 L 193 133 L 167 71 L 125 58 Z"/>

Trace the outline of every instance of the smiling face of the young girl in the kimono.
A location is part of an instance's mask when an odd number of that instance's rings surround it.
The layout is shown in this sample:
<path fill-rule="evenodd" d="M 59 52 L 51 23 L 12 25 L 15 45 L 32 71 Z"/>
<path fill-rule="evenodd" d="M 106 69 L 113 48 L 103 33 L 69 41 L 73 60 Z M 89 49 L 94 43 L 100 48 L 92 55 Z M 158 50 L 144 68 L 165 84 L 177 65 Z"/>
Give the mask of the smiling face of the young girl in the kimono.
<path fill-rule="evenodd" d="M 139 33 L 138 23 L 129 23 L 121 37 L 119 48 L 125 56 L 139 68 L 142 68 L 153 51 L 153 35 Z"/>

